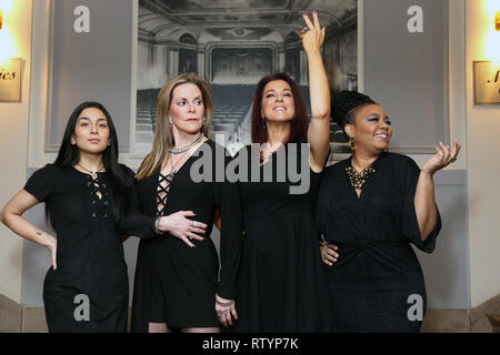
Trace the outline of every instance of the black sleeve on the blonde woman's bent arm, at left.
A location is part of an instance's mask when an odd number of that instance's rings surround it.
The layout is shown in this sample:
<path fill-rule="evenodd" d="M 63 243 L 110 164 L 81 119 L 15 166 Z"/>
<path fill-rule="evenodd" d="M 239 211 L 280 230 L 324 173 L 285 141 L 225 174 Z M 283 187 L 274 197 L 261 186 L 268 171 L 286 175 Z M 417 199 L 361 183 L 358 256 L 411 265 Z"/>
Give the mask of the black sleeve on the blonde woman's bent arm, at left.
<path fill-rule="evenodd" d="M 143 214 L 144 206 L 140 199 L 140 182 L 136 181 L 129 213 L 121 219 L 120 230 L 123 233 L 134 235 L 140 239 L 153 239 L 158 236 L 158 234 L 154 233 L 154 220 L 157 217 Z"/>

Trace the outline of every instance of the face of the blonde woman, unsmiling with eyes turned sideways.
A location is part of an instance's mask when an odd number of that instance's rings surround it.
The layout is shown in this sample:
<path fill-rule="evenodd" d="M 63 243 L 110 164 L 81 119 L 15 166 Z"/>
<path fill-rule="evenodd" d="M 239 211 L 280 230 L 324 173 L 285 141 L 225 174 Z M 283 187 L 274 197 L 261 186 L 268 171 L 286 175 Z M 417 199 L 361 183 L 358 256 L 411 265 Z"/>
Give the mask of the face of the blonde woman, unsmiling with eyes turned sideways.
<path fill-rule="evenodd" d="M 176 129 L 190 134 L 200 132 L 203 115 L 203 95 L 196 84 L 188 82 L 173 89 L 169 116 Z"/>

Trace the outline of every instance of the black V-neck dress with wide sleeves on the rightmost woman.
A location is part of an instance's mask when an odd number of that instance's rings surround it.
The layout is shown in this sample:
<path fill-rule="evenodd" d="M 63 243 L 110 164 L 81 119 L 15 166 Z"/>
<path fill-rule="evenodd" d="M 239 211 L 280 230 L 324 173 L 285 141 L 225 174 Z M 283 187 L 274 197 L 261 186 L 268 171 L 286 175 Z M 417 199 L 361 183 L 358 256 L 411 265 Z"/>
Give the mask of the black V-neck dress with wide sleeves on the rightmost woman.
<path fill-rule="evenodd" d="M 338 331 L 418 332 L 413 306 L 421 300 L 424 315 L 426 285 L 410 243 L 433 251 L 439 213 L 422 242 L 413 203 L 420 169 L 410 158 L 382 153 L 360 197 L 346 173 L 350 164 L 349 158 L 326 170 L 316 206 L 318 231 L 339 246 L 338 262 L 324 265 Z"/>

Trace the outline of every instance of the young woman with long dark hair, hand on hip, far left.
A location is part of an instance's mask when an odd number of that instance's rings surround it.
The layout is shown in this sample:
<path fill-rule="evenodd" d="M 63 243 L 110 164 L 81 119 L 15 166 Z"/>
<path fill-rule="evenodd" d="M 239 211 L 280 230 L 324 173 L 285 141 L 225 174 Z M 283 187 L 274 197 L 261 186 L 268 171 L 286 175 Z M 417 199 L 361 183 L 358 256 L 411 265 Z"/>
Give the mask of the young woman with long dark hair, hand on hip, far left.
<path fill-rule="evenodd" d="M 133 172 L 118 164 L 110 114 L 83 102 L 71 113 L 54 163 L 36 171 L 3 207 L 8 227 L 51 253 L 43 283 L 50 332 L 126 332 L 129 286 L 117 225 L 132 187 Z M 41 202 L 57 237 L 22 216 Z"/>

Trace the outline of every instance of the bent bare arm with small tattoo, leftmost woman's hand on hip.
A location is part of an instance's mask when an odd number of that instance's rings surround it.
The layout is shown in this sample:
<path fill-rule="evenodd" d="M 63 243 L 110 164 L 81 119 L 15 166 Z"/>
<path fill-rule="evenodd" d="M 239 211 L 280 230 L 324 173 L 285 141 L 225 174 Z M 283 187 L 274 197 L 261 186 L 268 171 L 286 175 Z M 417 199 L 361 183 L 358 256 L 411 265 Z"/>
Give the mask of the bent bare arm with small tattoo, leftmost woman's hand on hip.
<path fill-rule="evenodd" d="M 51 252 L 52 267 L 56 270 L 56 237 L 34 226 L 22 216 L 26 211 L 38 203 L 40 201 L 32 194 L 21 190 L 3 206 L 0 213 L 1 221 L 16 234 L 47 247 Z"/>

